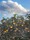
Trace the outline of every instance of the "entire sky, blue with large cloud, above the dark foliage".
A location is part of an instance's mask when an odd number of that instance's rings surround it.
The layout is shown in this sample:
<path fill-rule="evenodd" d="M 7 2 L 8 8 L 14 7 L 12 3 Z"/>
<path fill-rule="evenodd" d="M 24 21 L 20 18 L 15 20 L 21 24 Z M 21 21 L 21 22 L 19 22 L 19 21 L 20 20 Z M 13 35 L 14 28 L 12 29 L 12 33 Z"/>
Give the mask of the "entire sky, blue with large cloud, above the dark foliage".
<path fill-rule="evenodd" d="M 12 17 L 14 13 L 24 15 L 28 11 L 30 0 L 0 0 L 0 20 L 2 17 Z"/>

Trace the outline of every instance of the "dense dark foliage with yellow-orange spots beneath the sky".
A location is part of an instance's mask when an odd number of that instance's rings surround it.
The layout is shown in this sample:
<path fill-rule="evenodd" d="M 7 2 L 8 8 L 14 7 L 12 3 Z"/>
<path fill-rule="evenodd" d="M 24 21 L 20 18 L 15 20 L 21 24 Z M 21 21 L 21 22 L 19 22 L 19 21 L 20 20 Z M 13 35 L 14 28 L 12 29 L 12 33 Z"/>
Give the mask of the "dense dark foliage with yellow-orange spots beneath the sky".
<path fill-rule="evenodd" d="M 0 40 L 30 40 L 30 15 L 4 18 L 0 23 Z"/>

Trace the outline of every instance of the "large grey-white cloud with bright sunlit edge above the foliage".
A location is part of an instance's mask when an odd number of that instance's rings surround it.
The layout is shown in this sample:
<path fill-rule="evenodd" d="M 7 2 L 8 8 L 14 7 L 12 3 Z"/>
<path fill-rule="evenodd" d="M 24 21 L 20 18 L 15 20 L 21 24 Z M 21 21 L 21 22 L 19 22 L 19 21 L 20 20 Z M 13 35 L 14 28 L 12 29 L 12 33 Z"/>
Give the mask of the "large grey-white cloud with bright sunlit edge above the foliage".
<path fill-rule="evenodd" d="M 12 17 L 13 14 L 26 14 L 29 12 L 26 8 L 24 8 L 21 4 L 17 2 L 13 2 L 11 0 L 2 1 L 0 4 L 0 12 L 2 13 L 2 17 Z"/>

